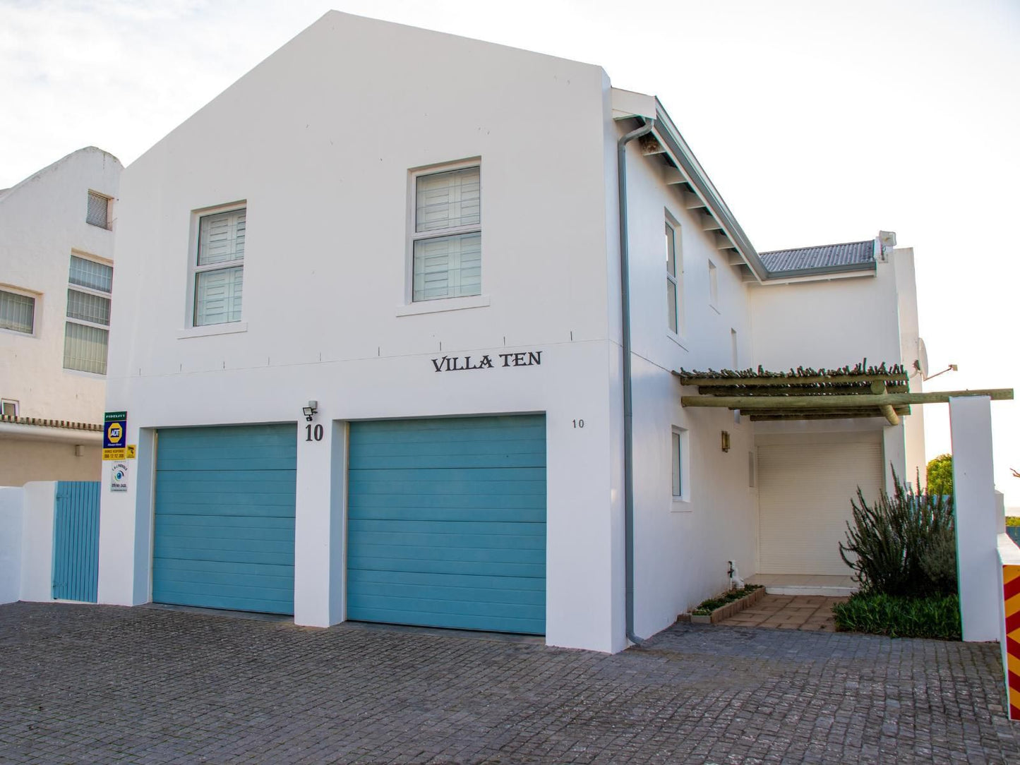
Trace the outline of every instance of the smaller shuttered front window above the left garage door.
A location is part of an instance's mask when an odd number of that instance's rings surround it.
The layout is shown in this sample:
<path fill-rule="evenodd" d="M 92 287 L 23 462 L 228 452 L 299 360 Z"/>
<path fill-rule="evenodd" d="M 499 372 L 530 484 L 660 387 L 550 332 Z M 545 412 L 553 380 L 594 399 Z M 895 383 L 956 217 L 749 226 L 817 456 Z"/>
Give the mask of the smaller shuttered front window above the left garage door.
<path fill-rule="evenodd" d="M 241 320 L 246 213 L 247 207 L 238 207 L 199 217 L 192 260 L 195 326 Z"/>

